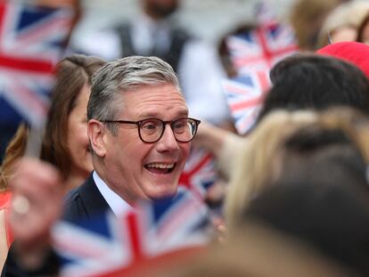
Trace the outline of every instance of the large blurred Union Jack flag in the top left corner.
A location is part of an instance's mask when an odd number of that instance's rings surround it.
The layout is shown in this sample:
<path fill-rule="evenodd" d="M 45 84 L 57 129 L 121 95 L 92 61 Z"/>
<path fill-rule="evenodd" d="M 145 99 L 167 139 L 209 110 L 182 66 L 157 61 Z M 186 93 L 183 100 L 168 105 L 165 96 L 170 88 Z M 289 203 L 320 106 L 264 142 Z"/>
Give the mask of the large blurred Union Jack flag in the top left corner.
<path fill-rule="evenodd" d="M 71 19 L 69 9 L 0 2 L 0 118 L 12 113 L 43 125 Z"/>

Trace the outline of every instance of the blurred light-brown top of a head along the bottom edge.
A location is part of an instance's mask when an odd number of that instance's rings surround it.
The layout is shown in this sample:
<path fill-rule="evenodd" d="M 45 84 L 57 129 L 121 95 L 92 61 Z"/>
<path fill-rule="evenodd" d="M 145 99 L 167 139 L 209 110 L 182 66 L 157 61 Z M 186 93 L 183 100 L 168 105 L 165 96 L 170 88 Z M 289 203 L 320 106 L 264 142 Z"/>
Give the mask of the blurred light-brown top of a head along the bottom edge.
<path fill-rule="evenodd" d="M 282 232 L 244 224 L 221 245 L 209 245 L 177 263 L 162 266 L 157 277 L 348 277 L 340 265 Z"/>

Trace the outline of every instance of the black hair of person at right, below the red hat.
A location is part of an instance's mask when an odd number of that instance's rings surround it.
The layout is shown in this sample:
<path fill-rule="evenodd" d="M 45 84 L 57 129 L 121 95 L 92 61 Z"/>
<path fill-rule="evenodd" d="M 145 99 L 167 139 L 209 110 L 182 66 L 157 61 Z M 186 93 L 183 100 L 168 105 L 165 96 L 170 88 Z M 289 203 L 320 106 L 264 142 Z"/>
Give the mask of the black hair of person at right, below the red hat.
<path fill-rule="evenodd" d="M 332 57 L 298 54 L 278 62 L 258 120 L 275 109 L 324 110 L 350 106 L 369 112 L 369 80 L 355 65 Z"/>

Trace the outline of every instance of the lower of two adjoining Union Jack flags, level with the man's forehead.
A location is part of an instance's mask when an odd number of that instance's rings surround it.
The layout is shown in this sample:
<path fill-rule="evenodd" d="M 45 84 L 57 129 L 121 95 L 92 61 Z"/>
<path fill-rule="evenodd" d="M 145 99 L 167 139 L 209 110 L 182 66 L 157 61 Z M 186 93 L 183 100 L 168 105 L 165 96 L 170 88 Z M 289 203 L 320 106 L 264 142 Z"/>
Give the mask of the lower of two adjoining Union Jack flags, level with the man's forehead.
<path fill-rule="evenodd" d="M 266 71 L 245 73 L 223 81 L 226 102 L 239 134 L 246 134 L 258 117 L 258 111 L 270 86 Z"/>

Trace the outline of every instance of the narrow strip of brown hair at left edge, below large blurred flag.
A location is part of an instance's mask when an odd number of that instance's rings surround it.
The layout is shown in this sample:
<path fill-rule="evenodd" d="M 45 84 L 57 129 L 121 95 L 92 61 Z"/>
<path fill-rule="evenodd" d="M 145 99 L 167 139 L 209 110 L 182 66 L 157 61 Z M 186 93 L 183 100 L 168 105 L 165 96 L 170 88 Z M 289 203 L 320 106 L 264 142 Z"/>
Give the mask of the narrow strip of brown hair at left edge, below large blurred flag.
<path fill-rule="evenodd" d="M 8 190 L 9 179 L 12 177 L 14 166 L 24 154 L 29 137 L 29 127 L 21 124 L 6 147 L 3 163 L 0 167 L 0 191 Z"/>

